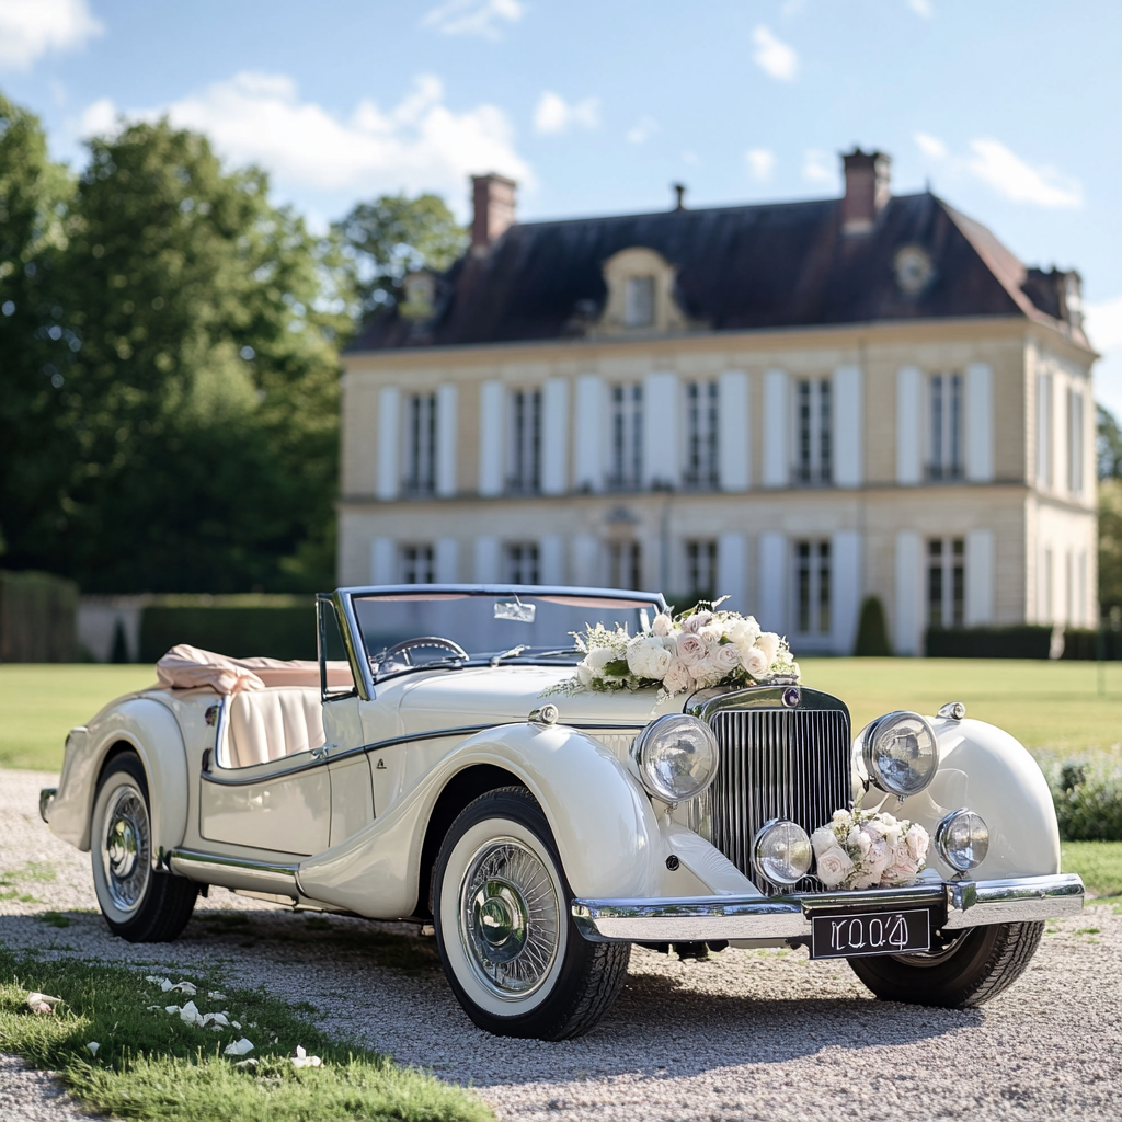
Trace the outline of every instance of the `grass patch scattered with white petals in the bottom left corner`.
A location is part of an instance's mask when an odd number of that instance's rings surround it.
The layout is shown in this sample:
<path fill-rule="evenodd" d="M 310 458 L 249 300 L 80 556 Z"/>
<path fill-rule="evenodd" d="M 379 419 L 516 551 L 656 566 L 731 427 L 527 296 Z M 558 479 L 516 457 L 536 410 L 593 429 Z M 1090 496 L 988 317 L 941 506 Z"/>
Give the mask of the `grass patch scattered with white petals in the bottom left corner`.
<path fill-rule="evenodd" d="M 173 981 L 180 981 L 176 976 Z M 241 1029 L 221 1033 L 185 1024 L 163 1006 L 183 1005 L 142 975 L 74 959 L 17 958 L 0 948 L 0 1050 L 62 1074 L 88 1106 L 129 1119 L 184 1122 L 482 1122 L 488 1109 L 460 1087 L 388 1057 L 328 1039 L 289 1005 L 259 991 L 228 990 L 218 977 L 192 976 L 203 1012 L 229 1010 Z M 206 1000 L 208 990 L 224 995 Z M 53 1017 L 26 1008 L 29 990 L 63 999 Z M 177 1000 L 173 1000 L 177 999 Z M 147 1005 L 162 1006 L 156 1012 Z M 223 1048 L 245 1034 L 256 1067 Z M 100 1043 L 95 1056 L 86 1048 Z M 323 1067 L 293 1067 L 297 1045 Z"/>

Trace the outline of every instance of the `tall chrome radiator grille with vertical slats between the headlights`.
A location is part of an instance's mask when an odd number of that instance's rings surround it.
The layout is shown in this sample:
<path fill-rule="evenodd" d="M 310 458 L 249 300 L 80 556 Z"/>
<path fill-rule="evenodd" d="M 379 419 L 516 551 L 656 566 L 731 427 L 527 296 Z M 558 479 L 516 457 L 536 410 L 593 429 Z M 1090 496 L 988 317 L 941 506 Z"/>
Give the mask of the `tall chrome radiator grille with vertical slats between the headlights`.
<path fill-rule="evenodd" d="M 690 804 L 690 825 L 762 892 L 773 894 L 780 890 L 752 867 L 752 839 L 771 818 L 788 818 L 810 834 L 849 806 L 849 715 L 734 709 L 715 714 L 710 723 L 720 766 L 709 790 Z M 795 889 L 817 886 L 806 877 Z"/>

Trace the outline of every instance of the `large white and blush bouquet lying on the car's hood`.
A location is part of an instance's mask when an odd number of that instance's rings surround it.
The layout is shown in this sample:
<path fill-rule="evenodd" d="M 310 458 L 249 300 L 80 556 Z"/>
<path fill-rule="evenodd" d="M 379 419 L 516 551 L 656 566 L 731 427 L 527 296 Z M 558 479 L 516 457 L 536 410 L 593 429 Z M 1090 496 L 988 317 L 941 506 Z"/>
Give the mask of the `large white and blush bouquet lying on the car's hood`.
<path fill-rule="evenodd" d="M 659 687 L 672 697 L 716 686 L 753 686 L 776 674 L 798 681 L 799 664 L 785 638 L 761 631 L 752 616 L 716 610 L 719 604 L 698 604 L 675 616 L 659 613 L 637 635 L 603 624 L 574 632 L 585 657 L 573 678 L 546 692 Z"/>

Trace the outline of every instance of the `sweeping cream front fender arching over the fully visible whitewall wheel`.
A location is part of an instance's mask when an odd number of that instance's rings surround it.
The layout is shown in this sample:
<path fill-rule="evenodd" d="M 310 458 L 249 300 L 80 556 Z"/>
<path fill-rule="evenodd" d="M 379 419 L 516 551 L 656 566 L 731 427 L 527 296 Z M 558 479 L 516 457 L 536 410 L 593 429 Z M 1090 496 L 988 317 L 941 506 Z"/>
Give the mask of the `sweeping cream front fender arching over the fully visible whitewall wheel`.
<path fill-rule="evenodd" d="M 479 764 L 528 788 L 576 895 L 657 893 L 666 854 L 650 799 L 608 748 L 561 725 L 504 725 L 460 742 L 384 818 L 305 861 L 301 891 L 360 914 L 408 914 L 433 807 L 458 772 Z"/>

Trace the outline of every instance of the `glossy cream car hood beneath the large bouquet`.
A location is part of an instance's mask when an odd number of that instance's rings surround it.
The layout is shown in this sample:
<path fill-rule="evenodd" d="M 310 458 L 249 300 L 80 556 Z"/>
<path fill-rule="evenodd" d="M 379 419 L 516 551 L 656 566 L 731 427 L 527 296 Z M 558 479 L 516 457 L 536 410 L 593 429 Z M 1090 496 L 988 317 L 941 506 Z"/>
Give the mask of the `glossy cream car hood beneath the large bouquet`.
<path fill-rule="evenodd" d="M 470 666 L 402 680 L 397 705 L 402 732 L 499 725 L 525 720 L 552 702 L 562 725 L 640 727 L 666 712 L 681 712 L 686 695 L 659 702 L 657 691 L 587 691 L 573 697 L 543 692 L 572 678 L 571 666 Z"/>

